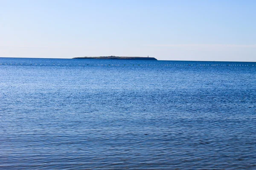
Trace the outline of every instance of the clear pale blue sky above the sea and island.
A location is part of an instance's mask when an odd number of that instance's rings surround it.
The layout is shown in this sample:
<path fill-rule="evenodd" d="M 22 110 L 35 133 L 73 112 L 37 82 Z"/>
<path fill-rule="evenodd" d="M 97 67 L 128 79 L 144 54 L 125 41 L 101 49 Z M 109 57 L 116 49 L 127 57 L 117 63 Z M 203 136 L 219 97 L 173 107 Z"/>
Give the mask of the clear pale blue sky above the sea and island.
<path fill-rule="evenodd" d="M 256 0 L 0 0 L 0 57 L 256 61 Z"/>

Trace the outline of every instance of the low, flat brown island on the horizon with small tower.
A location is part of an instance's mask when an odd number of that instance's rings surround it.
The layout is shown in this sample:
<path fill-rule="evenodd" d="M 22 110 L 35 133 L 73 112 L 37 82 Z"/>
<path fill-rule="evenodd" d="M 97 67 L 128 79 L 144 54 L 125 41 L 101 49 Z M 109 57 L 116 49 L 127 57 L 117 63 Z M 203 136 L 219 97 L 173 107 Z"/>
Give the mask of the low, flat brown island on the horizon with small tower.
<path fill-rule="evenodd" d="M 117 56 L 103 56 L 103 57 L 75 57 L 73 59 L 136 59 L 136 60 L 157 60 L 154 57 L 117 57 Z"/>

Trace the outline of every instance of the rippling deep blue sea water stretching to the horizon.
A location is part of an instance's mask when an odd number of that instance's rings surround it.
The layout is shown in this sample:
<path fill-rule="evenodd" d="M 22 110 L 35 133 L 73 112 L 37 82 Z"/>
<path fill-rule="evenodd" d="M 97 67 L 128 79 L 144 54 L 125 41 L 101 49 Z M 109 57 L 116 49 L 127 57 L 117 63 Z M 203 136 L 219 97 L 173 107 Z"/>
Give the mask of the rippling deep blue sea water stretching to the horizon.
<path fill-rule="evenodd" d="M 0 58 L 0 169 L 256 169 L 256 62 Z"/>

